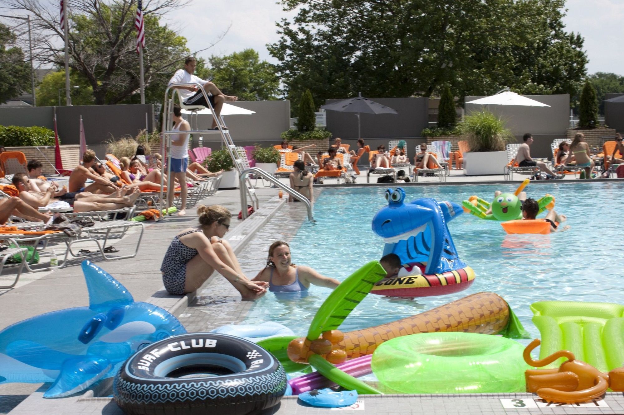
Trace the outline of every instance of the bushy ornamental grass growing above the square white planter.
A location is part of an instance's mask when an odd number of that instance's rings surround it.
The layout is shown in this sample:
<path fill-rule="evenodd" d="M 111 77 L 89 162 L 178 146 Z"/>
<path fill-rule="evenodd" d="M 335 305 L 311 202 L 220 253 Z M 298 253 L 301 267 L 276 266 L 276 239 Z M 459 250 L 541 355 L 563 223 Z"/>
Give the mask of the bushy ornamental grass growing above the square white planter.
<path fill-rule="evenodd" d="M 464 117 L 461 131 L 474 152 L 505 150 L 507 142 L 514 138 L 505 122 L 487 110 Z"/>

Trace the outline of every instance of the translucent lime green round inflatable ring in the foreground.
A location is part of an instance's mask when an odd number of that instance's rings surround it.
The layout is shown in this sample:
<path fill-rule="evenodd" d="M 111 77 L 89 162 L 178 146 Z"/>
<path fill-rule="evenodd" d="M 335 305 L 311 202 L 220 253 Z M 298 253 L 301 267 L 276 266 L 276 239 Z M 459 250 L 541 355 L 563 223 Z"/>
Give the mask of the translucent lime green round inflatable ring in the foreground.
<path fill-rule="evenodd" d="M 525 390 L 524 346 L 477 333 L 419 333 L 385 341 L 371 368 L 402 393 L 505 393 Z"/>

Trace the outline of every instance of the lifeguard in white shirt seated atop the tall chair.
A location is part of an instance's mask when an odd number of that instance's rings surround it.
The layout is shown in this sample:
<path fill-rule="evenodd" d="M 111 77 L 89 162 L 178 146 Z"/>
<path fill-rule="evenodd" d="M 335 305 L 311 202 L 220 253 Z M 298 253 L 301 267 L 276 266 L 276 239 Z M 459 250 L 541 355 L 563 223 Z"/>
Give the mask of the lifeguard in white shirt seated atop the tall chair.
<path fill-rule="evenodd" d="M 206 91 L 208 95 L 208 100 L 212 104 L 212 107 L 215 108 L 215 115 L 219 117 L 221 114 L 221 108 L 223 107 L 223 103 L 226 101 L 238 101 L 238 97 L 230 97 L 230 95 L 225 95 L 223 92 L 217 88 L 217 85 L 214 83 L 203 80 L 200 77 L 197 77 L 195 74 L 195 68 L 197 67 L 197 60 L 194 57 L 189 56 L 184 60 L 184 69 L 178 69 L 173 74 L 173 77 L 169 80 L 169 85 L 172 83 L 190 83 L 195 82 L 199 83 L 203 86 L 203 89 Z M 198 90 L 197 85 L 186 85 L 179 87 L 172 87 L 174 89 L 180 90 L 180 97 L 184 100 L 184 105 L 202 105 L 203 107 L 208 107 L 208 103 L 206 102 L 206 98 L 203 96 L 203 92 Z M 223 130 L 227 130 L 227 128 L 222 127 Z M 212 130 L 218 130 L 217 127 L 217 118 L 213 117 L 212 119 Z"/>

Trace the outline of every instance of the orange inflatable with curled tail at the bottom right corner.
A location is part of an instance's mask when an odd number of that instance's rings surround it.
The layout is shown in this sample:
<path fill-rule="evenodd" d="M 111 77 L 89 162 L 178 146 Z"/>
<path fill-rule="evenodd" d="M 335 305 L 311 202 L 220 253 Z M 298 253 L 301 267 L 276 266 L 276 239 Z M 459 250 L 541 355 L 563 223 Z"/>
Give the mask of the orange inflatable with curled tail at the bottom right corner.
<path fill-rule="evenodd" d="M 602 396 L 608 388 L 624 391 L 624 368 L 602 373 L 584 361 L 576 360 L 568 350 L 553 353 L 542 360 L 533 360 L 531 351 L 540 345 L 535 339 L 524 350 L 524 361 L 534 368 L 550 365 L 558 358 L 568 358 L 558 369 L 525 371 L 527 391 L 550 402 L 581 403 Z"/>

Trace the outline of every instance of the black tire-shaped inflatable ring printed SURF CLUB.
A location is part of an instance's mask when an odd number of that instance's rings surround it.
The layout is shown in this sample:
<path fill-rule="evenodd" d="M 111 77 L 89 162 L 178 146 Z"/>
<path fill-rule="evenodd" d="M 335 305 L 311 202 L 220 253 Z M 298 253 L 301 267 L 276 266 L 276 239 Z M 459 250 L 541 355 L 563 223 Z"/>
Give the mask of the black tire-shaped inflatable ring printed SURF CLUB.
<path fill-rule="evenodd" d="M 113 383 L 126 414 L 260 412 L 280 402 L 286 372 L 255 343 L 220 333 L 187 333 L 137 351 Z"/>

